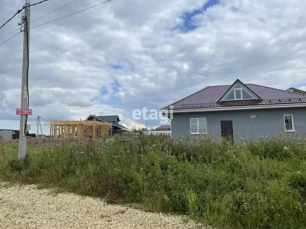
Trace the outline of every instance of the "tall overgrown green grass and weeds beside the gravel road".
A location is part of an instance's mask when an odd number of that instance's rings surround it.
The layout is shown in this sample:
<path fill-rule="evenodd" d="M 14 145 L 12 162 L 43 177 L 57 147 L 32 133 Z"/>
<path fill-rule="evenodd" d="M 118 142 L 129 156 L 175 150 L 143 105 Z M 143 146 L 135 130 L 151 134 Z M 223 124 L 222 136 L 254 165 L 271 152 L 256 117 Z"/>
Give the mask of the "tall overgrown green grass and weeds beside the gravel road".
<path fill-rule="evenodd" d="M 219 143 L 213 136 L 173 141 L 59 141 L 0 146 L 0 179 L 197 217 L 219 228 L 306 228 L 306 138 Z"/>

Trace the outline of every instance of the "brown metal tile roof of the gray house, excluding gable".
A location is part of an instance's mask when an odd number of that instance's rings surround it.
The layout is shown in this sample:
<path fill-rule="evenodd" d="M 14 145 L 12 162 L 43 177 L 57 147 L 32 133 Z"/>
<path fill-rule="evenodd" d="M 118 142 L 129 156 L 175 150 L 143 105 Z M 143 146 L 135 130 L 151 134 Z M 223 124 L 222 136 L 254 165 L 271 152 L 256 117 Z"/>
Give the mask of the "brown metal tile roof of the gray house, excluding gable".
<path fill-rule="evenodd" d="M 219 85 L 206 87 L 190 96 L 162 108 L 162 110 L 195 109 L 213 107 L 258 106 L 272 104 L 298 104 L 306 103 L 306 95 L 293 93 L 281 89 L 275 89 L 257 84 L 245 84 L 252 92 L 262 100 L 235 100 L 217 103 L 221 96 L 231 85 Z"/>

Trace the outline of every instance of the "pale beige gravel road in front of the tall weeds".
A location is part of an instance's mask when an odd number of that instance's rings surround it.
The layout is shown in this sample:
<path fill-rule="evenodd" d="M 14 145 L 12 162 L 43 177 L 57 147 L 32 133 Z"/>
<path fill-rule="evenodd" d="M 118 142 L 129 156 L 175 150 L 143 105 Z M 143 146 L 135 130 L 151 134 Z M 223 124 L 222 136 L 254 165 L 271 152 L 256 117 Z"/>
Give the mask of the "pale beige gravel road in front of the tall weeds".
<path fill-rule="evenodd" d="M 180 216 L 146 213 L 108 205 L 91 197 L 54 194 L 35 185 L 6 187 L 0 183 L 0 228 L 203 228 Z"/>

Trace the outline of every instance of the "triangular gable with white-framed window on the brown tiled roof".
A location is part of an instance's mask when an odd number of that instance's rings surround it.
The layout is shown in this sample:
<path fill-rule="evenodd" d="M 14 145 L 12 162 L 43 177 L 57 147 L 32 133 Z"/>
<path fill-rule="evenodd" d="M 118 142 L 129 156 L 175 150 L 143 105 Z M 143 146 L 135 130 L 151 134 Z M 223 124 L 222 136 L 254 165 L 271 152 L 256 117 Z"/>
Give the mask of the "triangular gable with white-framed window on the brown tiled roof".
<path fill-rule="evenodd" d="M 217 103 L 222 101 L 233 100 L 262 100 L 248 86 L 237 79 L 227 91 L 217 100 Z"/>

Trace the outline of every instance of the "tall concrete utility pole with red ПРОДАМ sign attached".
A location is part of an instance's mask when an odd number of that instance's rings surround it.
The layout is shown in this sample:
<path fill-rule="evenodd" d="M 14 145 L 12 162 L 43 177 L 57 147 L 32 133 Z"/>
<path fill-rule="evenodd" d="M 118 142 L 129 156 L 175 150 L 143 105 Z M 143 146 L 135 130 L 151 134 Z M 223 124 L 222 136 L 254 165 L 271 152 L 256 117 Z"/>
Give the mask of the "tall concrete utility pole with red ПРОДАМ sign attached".
<path fill-rule="evenodd" d="M 28 47 L 30 45 L 30 3 L 26 2 L 24 9 L 24 36 L 23 36 L 23 59 L 22 59 L 22 81 L 21 81 L 21 109 L 28 109 Z M 27 136 L 25 136 L 25 119 L 26 115 L 20 115 L 20 132 L 19 132 L 19 151 L 18 160 L 25 160 L 25 151 L 27 145 Z"/>

